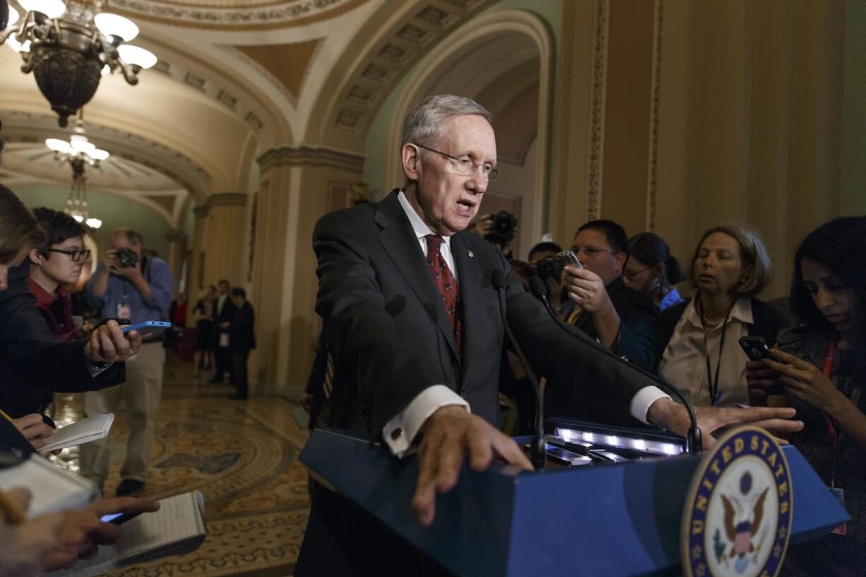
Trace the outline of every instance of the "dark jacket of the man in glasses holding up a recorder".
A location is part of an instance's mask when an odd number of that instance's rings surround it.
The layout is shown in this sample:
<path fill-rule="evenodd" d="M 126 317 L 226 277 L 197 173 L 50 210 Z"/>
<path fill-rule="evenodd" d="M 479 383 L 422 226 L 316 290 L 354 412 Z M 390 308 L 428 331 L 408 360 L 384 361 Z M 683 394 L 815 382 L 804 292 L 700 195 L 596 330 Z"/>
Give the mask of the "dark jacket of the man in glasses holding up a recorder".
<path fill-rule="evenodd" d="M 648 371 L 654 363 L 653 338 L 655 336 L 658 308 L 650 299 L 650 295 L 629 289 L 619 276 L 607 285 L 607 295 L 611 298 L 613 308 L 619 315 L 619 340 L 614 353 L 625 357 L 630 362 Z M 569 301 L 572 303 L 573 301 Z M 583 311 L 578 314 L 574 323 L 591 339 L 598 336 L 592 314 Z"/>

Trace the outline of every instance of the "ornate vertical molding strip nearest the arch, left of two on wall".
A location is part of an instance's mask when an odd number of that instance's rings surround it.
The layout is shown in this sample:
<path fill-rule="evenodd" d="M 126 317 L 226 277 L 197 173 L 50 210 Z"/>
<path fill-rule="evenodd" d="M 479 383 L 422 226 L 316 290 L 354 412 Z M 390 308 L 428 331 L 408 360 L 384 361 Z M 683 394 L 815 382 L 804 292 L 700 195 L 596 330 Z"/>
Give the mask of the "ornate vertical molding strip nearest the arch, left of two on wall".
<path fill-rule="evenodd" d="M 586 183 L 586 218 L 601 214 L 602 172 L 604 170 L 604 100 L 607 91 L 608 0 L 595 0 L 592 37 L 592 97 L 590 104 L 590 156 Z"/>

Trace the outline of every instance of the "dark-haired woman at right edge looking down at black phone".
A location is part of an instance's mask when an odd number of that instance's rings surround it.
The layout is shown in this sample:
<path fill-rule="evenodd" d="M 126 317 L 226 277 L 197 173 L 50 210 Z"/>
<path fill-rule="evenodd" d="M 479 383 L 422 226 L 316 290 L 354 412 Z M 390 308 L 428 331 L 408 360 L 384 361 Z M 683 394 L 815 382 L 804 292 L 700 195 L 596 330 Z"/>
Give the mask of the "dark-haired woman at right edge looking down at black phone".
<path fill-rule="evenodd" d="M 851 522 L 785 559 L 785 574 L 855 575 L 866 567 L 866 217 L 813 230 L 794 256 L 791 306 L 803 324 L 779 333 L 782 362 L 750 362 L 753 405 L 792 405 L 793 442 Z M 784 392 L 783 396 L 774 396 Z"/>

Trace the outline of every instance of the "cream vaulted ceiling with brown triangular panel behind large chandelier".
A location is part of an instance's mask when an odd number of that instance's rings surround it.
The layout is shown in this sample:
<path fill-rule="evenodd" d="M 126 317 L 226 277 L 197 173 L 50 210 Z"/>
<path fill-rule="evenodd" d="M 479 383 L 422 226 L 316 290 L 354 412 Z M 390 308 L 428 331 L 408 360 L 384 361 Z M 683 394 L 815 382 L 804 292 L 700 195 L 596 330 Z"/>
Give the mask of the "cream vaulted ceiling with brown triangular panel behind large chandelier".
<path fill-rule="evenodd" d="M 88 131 L 126 134 L 103 147 L 169 175 L 198 204 L 216 192 L 250 192 L 255 159 L 275 146 L 360 151 L 365 119 L 401 75 L 493 2 L 112 0 L 108 10 L 139 24 L 134 43 L 159 62 L 135 87 L 103 77 L 85 107 Z M 50 119 L 20 66 L 20 55 L 0 47 L 7 126 L 10 114 Z"/>

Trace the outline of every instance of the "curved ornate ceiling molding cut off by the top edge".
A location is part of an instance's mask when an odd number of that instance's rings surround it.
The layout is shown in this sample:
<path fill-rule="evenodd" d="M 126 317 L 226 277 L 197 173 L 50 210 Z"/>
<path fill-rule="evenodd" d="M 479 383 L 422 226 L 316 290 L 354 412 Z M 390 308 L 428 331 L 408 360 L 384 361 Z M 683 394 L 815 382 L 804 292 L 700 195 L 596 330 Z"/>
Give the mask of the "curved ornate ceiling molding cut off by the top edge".
<path fill-rule="evenodd" d="M 113 12 L 186 28 L 218 30 L 286 29 L 321 22 L 354 10 L 368 0 L 278 0 L 276 2 L 178 3 L 167 0 L 112 0 Z M 204 5 L 203 5 L 204 4 Z"/>

